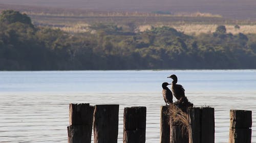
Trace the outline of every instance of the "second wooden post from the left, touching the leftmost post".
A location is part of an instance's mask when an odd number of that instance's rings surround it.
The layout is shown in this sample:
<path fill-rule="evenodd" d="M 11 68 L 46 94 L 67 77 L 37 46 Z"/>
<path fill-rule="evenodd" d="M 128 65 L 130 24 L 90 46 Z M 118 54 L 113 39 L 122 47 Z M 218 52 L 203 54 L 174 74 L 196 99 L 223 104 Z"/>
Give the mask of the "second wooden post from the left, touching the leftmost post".
<path fill-rule="evenodd" d="M 119 105 L 95 105 L 94 143 L 117 143 Z"/>

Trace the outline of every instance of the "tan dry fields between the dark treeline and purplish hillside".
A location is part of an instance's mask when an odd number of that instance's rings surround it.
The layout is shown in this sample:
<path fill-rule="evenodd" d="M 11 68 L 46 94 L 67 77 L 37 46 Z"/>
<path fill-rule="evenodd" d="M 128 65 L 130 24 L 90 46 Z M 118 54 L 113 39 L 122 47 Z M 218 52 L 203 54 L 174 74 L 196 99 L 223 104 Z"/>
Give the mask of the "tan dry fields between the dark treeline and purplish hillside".
<path fill-rule="evenodd" d="M 189 35 L 212 33 L 218 25 L 225 25 L 227 32 L 232 34 L 256 33 L 254 20 L 234 20 L 210 13 L 156 14 L 0 4 L 0 11 L 5 9 L 14 9 L 28 14 L 36 25 L 60 28 L 71 33 L 88 32 L 90 25 L 95 23 L 112 23 L 123 27 L 134 23 L 136 31 L 167 25 Z M 234 28 L 236 24 L 240 25 L 240 29 Z"/>

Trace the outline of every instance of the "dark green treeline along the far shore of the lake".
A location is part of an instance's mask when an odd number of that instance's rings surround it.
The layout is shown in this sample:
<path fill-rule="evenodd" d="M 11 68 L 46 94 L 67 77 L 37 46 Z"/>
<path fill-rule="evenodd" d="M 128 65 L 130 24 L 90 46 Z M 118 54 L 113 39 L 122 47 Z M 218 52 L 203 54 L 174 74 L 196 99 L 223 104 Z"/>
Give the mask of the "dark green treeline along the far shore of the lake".
<path fill-rule="evenodd" d="M 0 70 L 255 69 L 256 35 L 188 36 L 171 27 L 135 33 L 115 24 L 70 34 L 36 27 L 30 17 L 0 15 Z"/>

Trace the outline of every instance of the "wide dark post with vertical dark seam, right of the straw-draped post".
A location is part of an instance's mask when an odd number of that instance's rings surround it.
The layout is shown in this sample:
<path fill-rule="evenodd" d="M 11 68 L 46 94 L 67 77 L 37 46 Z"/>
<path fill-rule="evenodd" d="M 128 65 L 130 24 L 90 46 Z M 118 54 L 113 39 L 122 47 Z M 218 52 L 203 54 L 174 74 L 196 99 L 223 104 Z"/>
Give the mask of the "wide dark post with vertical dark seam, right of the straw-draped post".
<path fill-rule="evenodd" d="M 215 116 L 214 108 L 189 107 L 189 143 L 214 143 Z"/>

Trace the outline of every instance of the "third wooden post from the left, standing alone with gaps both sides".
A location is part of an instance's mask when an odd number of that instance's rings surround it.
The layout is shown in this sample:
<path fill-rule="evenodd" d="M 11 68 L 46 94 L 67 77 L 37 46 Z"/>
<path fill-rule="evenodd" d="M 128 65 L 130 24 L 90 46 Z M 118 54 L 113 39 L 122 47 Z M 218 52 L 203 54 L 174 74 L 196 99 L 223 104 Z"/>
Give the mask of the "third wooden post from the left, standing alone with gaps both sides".
<path fill-rule="evenodd" d="M 145 143 L 146 107 L 125 107 L 123 112 L 123 143 Z"/>

